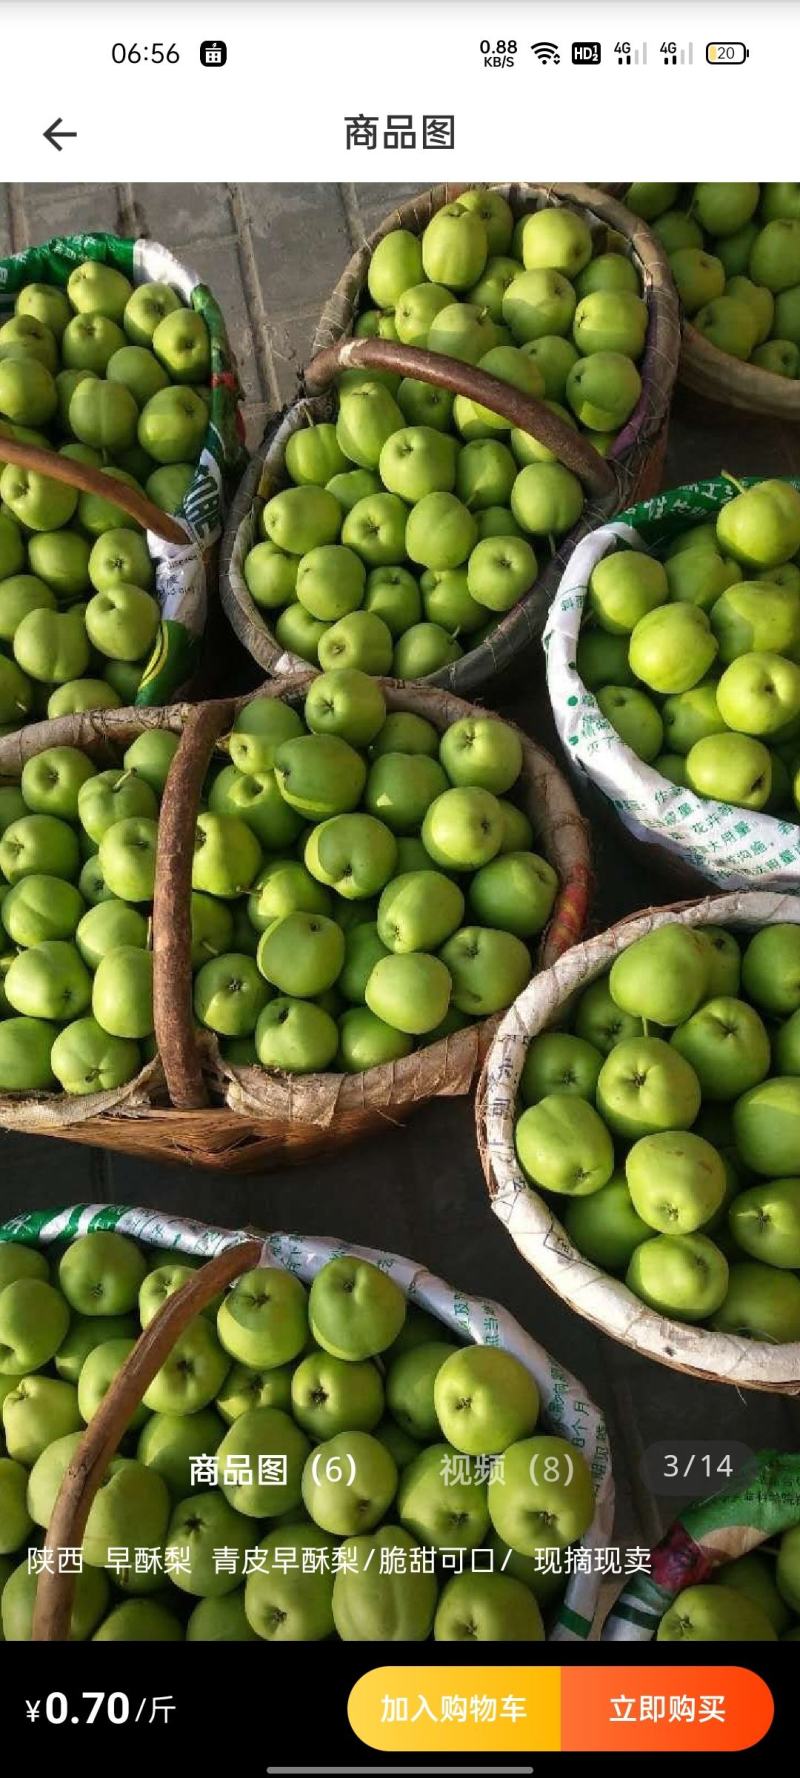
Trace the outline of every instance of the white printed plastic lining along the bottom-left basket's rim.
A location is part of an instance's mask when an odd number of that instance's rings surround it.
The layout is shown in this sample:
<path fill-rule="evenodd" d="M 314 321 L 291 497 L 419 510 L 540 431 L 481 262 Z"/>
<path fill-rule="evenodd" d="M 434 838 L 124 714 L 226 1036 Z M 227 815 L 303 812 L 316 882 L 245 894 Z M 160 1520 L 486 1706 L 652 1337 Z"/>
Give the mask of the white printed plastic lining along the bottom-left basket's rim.
<path fill-rule="evenodd" d="M 181 1216 L 128 1209 L 121 1204 L 76 1204 L 71 1209 L 28 1211 L 23 1216 L 14 1216 L 12 1221 L 0 1223 L 0 1241 L 23 1241 L 28 1246 L 59 1243 L 62 1248 L 94 1229 L 116 1229 L 119 1234 L 140 1241 L 142 1246 L 172 1248 L 197 1259 L 213 1259 L 215 1253 L 222 1253 L 240 1241 L 252 1241 L 252 1230 L 213 1229 Z M 588 1552 L 587 1566 L 592 1566 L 587 1574 L 571 1574 L 558 1622 L 551 1630 L 551 1641 L 583 1641 L 592 1629 L 601 1586 L 594 1550 L 608 1545 L 613 1526 L 612 1451 L 603 1415 L 581 1383 L 556 1364 L 500 1303 L 455 1291 L 411 1259 L 324 1236 L 270 1234 L 265 1236 L 261 1264 L 283 1266 L 308 1284 L 329 1259 L 338 1259 L 341 1253 L 357 1253 L 361 1259 L 372 1261 L 395 1280 L 409 1303 L 427 1309 L 459 1339 L 473 1341 L 478 1346 L 500 1346 L 503 1351 L 514 1353 L 539 1387 L 542 1419 L 548 1430 L 569 1438 L 583 1453 L 592 1470 L 596 1492 L 594 1522 L 581 1540 L 581 1549 Z"/>

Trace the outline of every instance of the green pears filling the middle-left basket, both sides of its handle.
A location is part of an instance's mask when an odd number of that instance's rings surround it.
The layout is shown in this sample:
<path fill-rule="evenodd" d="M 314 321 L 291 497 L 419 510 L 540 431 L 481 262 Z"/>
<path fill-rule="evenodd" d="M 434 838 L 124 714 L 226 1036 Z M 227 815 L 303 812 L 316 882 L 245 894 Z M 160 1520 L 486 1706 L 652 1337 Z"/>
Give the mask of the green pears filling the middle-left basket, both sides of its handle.
<path fill-rule="evenodd" d="M 119 766 L 75 747 L 0 786 L 0 1092 L 119 1088 L 153 1054 L 158 807 L 178 736 Z M 304 711 L 254 699 L 204 784 L 192 861 L 197 1024 L 236 1065 L 361 1074 L 501 1012 L 558 891 L 508 797 L 516 729 L 444 734 L 354 669 Z"/>

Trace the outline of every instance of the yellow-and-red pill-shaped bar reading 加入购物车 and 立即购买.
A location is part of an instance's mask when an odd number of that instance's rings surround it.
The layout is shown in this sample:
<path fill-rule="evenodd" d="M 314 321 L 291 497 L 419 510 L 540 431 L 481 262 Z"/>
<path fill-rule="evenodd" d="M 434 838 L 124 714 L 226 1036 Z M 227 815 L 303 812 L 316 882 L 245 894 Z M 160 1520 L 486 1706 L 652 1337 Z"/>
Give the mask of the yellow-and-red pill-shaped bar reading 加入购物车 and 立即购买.
<path fill-rule="evenodd" d="M 380 1753 L 738 1753 L 773 1700 L 740 1666 L 384 1666 L 348 1718 Z"/>

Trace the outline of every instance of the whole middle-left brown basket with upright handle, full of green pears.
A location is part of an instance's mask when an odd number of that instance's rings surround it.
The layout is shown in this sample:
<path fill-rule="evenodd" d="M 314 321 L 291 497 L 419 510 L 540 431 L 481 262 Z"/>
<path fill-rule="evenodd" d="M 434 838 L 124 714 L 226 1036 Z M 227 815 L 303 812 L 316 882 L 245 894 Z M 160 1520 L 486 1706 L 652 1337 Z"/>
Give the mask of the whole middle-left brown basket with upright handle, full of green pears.
<path fill-rule="evenodd" d="M 0 777 L 16 1129 L 233 1170 L 336 1150 L 468 1093 L 585 926 L 558 768 L 436 688 L 338 669 L 62 718 Z"/>

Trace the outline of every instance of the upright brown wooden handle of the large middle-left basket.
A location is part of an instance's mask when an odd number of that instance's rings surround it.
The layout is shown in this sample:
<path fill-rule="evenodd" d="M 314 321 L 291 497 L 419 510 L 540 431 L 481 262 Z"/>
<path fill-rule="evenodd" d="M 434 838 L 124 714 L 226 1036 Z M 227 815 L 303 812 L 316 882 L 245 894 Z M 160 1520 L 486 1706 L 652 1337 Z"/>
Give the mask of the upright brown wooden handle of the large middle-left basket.
<path fill-rule="evenodd" d="M 158 1054 L 174 1109 L 201 1111 L 208 1088 L 192 1006 L 194 823 L 219 736 L 233 722 L 233 702 L 190 709 L 164 786 L 153 894 L 153 1015 Z"/>

